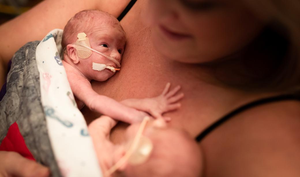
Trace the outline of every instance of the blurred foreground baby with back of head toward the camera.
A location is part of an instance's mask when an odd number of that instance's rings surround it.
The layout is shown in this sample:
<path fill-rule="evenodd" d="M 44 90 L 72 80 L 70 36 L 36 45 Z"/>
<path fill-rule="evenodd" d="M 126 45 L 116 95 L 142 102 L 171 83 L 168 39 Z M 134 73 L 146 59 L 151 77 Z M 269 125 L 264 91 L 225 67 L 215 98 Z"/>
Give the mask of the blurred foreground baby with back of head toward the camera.
<path fill-rule="evenodd" d="M 161 118 L 146 117 L 127 128 L 124 143 L 114 145 L 109 134 L 115 125 L 114 119 L 101 116 L 88 126 L 104 176 L 201 175 L 199 146 L 186 132 L 167 127 Z"/>

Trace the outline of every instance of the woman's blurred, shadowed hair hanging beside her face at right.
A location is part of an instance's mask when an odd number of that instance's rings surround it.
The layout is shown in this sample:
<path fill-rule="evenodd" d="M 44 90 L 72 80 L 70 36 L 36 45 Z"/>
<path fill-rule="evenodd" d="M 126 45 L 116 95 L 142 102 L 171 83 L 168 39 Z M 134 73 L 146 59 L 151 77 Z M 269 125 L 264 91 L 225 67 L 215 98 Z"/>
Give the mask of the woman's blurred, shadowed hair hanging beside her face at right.
<path fill-rule="evenodd" d="M 205 66 L 229 87 L 300 94 L 300 1 L 242 3 L 264 28 L 244 49 Z"/>

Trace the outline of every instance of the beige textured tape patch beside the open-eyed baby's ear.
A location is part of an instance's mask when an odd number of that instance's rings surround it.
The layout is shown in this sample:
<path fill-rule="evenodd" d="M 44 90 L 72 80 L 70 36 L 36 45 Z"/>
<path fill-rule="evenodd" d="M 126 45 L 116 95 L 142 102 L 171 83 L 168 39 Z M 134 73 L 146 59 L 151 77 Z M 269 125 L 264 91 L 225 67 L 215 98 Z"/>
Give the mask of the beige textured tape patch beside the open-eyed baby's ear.
<path fill-rule="evenodd" d="M 83 47 L 83 46 L 91 47 L 88 37 L 86 37 L 85 33 L 78 33 L 77 37 L 78 39 L 76 40 L 76 44 L 78 45 L 76 45 L 76 50 L 77 50 L 78 57 L 82 59 L 90 57 L 92 51 L 90 49 Z"/>

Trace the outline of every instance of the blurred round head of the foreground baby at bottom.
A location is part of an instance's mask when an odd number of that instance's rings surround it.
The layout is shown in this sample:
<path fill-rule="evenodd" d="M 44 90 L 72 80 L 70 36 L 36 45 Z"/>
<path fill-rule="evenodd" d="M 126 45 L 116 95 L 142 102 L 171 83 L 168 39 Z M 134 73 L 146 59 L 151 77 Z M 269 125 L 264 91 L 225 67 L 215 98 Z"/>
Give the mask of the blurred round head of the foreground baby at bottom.
<path fill-rule="evenodd" d="M 118 145 L 120 149 L 123 146 L 128 149 L 127 151 L 130 151 L 128 147 L 133 146 L 141 124 L 143 122 L 132 124 L 127 128 L 125 143 Z M 140 145 L 136 144 L 134 152 L 112 175 L 113 177 L 200 176 L 202 173 L 202 156 L 199 145 L 186 131 L 168 126 L 163 119 L 156 119 L 150 120 L 142 134 L 139 143 L 137 143 Z M 131 146 L 128 146 L 128 143 Z M 120 149 L 116 152 L 122 152 Z M 115 162 L 115 164 L 117 163 Z"/>

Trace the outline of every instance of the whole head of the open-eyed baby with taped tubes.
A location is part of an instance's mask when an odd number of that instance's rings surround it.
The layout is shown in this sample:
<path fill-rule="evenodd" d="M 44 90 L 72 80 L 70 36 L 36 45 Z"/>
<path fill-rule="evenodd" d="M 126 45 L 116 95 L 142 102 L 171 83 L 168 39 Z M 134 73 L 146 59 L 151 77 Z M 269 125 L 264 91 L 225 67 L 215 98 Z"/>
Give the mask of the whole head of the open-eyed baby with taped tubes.
<path fill-rule="evenodd" d="M 80 41 L 78 36 L 80 33 L 86 34 L 84 39 L 90 45 L 88 47 L 93 49 L 93 52 L 76 45 L 78 44 L 77 40 Z M 91 80 L 105 81 L 113 76 L 115 72 L 110 69 L 97 69 L 97 63 L 98 66 L 100 63 L 119 68 L 118 65 L 121 62 L 125 42 L 126 34 L 113 15 L 100 10 L 83 10 L 76 13 L 67 22 L 61 44 L 65 49 L 64 60 L 67 63 L 76 67 L 85 77 Z M 82 57 L 80 48 L 90 52 L 89 55 Z M 99 52 L 104 55 L 100 55 Z"/>

